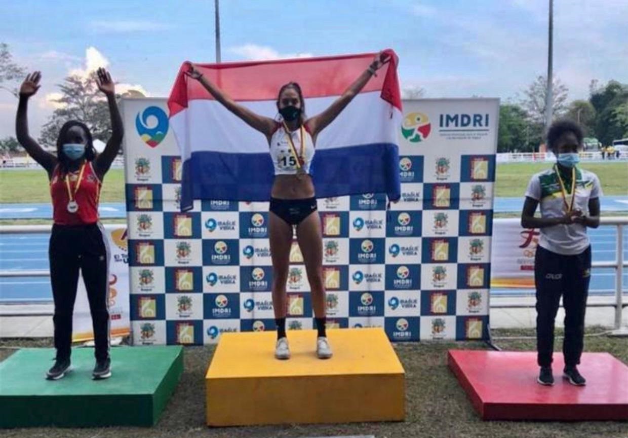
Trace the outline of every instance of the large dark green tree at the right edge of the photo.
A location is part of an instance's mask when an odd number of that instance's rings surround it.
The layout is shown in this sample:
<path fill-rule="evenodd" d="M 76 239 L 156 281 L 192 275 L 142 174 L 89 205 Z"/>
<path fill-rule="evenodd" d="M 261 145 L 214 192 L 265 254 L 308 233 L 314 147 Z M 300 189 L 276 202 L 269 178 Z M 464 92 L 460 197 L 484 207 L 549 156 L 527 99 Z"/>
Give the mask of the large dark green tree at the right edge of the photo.
<path fill-rule="evenodd" d="M 595 136 L 603 145 L 628 136 L 628 85 L 610 80 L 604 87 L 592 89 L 589 98 L 595 108 Z"/>

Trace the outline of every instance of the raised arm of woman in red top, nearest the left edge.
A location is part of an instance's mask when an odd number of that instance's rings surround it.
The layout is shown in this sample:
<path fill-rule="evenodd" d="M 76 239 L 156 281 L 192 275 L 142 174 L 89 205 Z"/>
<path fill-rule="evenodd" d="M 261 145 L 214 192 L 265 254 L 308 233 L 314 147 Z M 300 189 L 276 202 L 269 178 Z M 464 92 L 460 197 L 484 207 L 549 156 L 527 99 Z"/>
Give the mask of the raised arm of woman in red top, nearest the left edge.
<path fill-rule="evenodd" d="M 57 165 L 57 157 L 41 148 L 39 143 L 28 133 L 28 99 L 33 96 L 40 88 L 41 72 L 34 72 L 26 76 L 21 87 L 19 87 L 19 104 L 18 114 L 15 118 L 15 132 L 19 144 L 26 150 L 33 160 L 40 163 L 41 167 L 46 169 L 48 177 L 52 175 Z"/>

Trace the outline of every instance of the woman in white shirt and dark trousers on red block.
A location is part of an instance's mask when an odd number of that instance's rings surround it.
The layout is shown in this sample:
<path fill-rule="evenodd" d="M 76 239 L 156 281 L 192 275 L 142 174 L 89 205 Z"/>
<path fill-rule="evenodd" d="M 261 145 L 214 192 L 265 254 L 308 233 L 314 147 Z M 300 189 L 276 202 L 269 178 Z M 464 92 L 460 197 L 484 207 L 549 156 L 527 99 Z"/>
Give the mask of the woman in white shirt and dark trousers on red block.
<path fill-rule="evenodd" d="M 551 125 L 547 144 L 556 156 L 556 163 L 551 169 L 532 177 L 521 214 L 522 227 L 541 231 L 534 260 L 536 345 L 541 367 L 537 381 L 541 385 L 554 385 L 551 369 L 554 320 L 561 295 L 565 307 L 563 376 L 572 385 L 586 383 L 577 365 L 583 349 L 591 278 L 587 227 L 600 225 L 602 189 L 595 173 L 577 166 L 582 137 L 580 126 L 571 121 L 557 121 Z M 539 204 L 541 217 L 534 217 Z"/>

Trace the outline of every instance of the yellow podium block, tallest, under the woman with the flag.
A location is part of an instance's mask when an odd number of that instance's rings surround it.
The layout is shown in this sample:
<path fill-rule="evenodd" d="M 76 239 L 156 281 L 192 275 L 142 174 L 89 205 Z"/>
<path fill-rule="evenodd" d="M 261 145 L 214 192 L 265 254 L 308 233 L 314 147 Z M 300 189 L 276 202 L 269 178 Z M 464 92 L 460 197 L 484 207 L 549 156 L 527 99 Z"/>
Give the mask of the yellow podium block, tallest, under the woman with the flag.
<path fill-rule="evenodd" d="M 401 421 L 403 366 L 382 329 L 334 329 L 333 358 L 316 356 L 315 330 L 288 331 L 291 358 L 274 358 L 275 332 L 223 333 L 205 376 L 207 425 Z"/>

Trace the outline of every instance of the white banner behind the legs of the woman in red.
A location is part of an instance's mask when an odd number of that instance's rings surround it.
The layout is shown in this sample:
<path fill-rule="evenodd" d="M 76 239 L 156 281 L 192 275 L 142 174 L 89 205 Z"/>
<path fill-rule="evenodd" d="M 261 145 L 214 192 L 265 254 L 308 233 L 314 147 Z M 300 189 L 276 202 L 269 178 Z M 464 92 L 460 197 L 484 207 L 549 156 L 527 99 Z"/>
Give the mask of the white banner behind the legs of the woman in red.
<path fill-rule="evenodd" d="M 126 226 L 106 225 L 107 242 L 111 259 L 109 260 L 109 320 L 110 335 L 127 336 L 130 332 L 129 319 L 129 263 L 127 261 Z M 87 291 L 83 276 L 78 279 L 77 300 L 74 304 L 72 341 L 94 339 L 92 316 L 89 311 Z"/>

